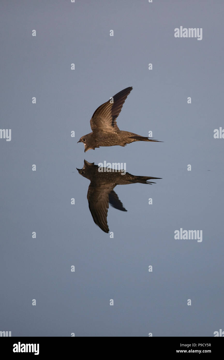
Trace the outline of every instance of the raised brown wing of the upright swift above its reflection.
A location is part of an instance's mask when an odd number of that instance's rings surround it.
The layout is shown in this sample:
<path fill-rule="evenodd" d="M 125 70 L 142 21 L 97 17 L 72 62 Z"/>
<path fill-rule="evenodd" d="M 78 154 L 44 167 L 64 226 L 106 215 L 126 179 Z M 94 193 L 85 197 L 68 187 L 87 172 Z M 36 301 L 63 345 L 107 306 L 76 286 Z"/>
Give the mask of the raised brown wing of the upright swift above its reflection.
<path fill-rule="evenodd" d="M 113 103 L 111 103 L 112 99 L 108 100 L 106 103 L 100 105 L 99 108 L 96 109 L 90 120 L 90 125 L 93 132 L 120 131 L 116 124 L 116 118 L 120 114 L 122 106 L 131 91 L 132 86 L 127 87 L 113 96 Z"/>

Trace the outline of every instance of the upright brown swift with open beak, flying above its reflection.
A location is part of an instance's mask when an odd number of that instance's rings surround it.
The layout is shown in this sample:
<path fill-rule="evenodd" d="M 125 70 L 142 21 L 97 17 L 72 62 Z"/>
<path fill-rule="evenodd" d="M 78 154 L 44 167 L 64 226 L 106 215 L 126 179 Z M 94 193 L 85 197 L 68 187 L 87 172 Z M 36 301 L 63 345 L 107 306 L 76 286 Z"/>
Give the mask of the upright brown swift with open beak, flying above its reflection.
<path fill-rule="evenodd" d="M 156 141 L 148 139 L 146 136 L 134 134 L 129 131 L 122 131 L 118 128 L 116 118 L 120 114 L 122 106 L 130 94 L 132 86 L 120 91 L 113 96 L 113 100 L 108 100 L 106 103 L 99 106 L 93 113 L 90 120 L 92 132 L 82 136 L 78 143 L 84 144 L 84 152 L 99 148 L 100 146 L 125 146 L 134 141 Z M 77 144 L 78 144 L 77 143 Z"/>

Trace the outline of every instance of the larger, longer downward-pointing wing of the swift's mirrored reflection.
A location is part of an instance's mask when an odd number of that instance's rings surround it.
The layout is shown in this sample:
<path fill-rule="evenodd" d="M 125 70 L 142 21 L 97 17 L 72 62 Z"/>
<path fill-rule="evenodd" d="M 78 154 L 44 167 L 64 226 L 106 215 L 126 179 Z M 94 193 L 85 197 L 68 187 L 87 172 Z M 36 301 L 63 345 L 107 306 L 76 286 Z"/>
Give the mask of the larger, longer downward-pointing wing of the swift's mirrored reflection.
<path fill-rule="evenodd" d="M 93 184 L 90 183 L 87 193 L 89 209 L 96 225 L 105 233 L 109 233 L 107 215 L 109 208 L 109 193 L 115 184 Z"/>

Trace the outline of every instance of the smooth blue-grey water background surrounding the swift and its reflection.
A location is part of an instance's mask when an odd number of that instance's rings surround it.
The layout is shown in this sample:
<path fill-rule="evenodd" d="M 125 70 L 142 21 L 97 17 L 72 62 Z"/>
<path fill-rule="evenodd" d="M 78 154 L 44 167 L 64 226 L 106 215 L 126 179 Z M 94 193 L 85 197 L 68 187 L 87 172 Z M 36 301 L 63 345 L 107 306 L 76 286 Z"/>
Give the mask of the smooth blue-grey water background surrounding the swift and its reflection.
<path fill-rule="evenodd" d="M 12 130 L 11 141 L 0 139 L 1 331 L 144 337 L 224 329 L 224 139 L 213 136 L 224 128 L 223 12 L 221 0 L 1 1 L 0 127 Z M 180 26 L 202 28 L 202 40 L 175 38 Z M 119 128 L 151 130 L 164 143 L 84 154 L 77 141 L 91 132 L 93 112 L 128 86 Z M 92 220 L 90 182 L 76 170 L 84 159 L 163 178 L 116 186 L 128 211 L 109 207 L 114 238 Z M 202 242 L 175 240 L 180 228 L 202 230 Z"/>

